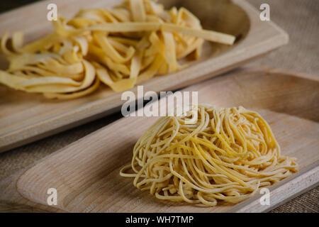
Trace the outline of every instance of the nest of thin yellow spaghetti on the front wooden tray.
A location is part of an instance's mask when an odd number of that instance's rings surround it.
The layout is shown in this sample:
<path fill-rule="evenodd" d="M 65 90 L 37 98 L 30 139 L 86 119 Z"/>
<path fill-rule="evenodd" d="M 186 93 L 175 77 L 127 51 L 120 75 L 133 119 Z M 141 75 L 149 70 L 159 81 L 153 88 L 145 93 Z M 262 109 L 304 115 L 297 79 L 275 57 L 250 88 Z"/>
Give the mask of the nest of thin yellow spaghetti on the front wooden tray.
<path fill-rule="evenodd" d="M 136 143 L 123 177 L 158 199 L 216 206 L 237 203 L 297 172 L 296 158 L 280 155 L 268 123 L 242 106 L 199 105 L 198 120 L 159 118 Z M 132 169 L 132 173 L 127 173 Z"/>

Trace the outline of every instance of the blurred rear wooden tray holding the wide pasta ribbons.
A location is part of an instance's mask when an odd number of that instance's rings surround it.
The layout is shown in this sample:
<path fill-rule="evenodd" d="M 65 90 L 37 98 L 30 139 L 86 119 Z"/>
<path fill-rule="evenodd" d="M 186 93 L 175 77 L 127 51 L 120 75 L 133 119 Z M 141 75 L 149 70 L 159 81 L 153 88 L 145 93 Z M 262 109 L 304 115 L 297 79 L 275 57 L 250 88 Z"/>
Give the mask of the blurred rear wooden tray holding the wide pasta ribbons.
<path fill-rule="evenodd" d="M 58 13 L 72 16 L 83 7 L 111 7 L 118 0 L 56 0 Z M 246 1 L 165 0 L 167 7 L 185 6 L 203 21 L 204 28 L 236 35 L 234 46 L 206 43 L 203 56 L 194 65 L 174 74 L 146 82 L 146 91 L 167 91 L 185 87 L 228 71 L 288 42 L 284 31 L 269 21 L 260 21 L 259 11 Z M 0 15 L 0 37 L 5 31 L 23 31 L 26 42 L 52 31 L 46 20 L 47 1 Z M 212 54 L 213 52 L 213 54 Z M 4 61 L 0 62 L 6 68 Z M 209 74 L 208 74 L 209 73 Z M 136 92 L 136 89 L 132 89 Z M 79 126 L 118 110 L 121 93 L 101 87 L 99 92 L 71 101 L 46 100 L 40 94 L 14 92 L 0 85 L 0 152 L 33 142 L 45 136 Z"/>

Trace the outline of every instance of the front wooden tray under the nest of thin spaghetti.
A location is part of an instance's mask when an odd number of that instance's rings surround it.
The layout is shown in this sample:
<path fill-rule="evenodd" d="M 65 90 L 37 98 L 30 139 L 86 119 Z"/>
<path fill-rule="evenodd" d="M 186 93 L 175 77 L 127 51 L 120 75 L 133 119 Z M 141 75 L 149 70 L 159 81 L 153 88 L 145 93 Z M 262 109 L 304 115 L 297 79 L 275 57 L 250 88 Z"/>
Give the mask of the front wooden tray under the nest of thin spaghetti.
<path fill-rule="evenodd" d="M 133 145 L 156 119 L 128 117 L 101 128 L 37 164 L 0 182 L 6 211 L 69 212 L 259 212 L 318 185 L 319 78 L 275 69 L 237 70 L 184 91 L 198 91 L 199 101 L 245 106 L 259 111 L 274 131 L 283 155 L 298 158 L 301 170 L 270 187 L 271 204 L 256 196 L 233 206 L 196 207 L 155 199 L 133 187 L 119 169 L 130 162 Z M 57 206 L 47 204 L 47 189 L 57 189 Z M 23 205 L 23 206 L 22 206 Z M 4 206 L 4 205 L 2 205 Z M 28 206 L 26 208 L 26 206 Z"/>

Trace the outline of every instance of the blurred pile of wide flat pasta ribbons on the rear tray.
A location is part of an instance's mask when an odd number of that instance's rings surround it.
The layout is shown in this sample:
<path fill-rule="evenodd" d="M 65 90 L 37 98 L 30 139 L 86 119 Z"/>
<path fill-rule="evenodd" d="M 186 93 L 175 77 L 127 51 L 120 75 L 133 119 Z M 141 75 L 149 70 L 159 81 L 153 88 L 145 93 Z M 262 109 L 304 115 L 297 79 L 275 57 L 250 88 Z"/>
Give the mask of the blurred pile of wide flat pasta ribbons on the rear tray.
<path fill-rule="evenodd" d="M 232 45 L 235 37 L 206 31 L 188 10 L 164 10 L 150 0 L 125 1 L 113 9 L 85 9 L 53 21 L 55 32 L 23 45 L 23 34 L 1 38 L 9 69 L 0 83 L 47 98 L 72 99 L 100 82 L 122 92 L 155 76 L 177 72 L 187 55 L 197 59 L 203 40 Z"/>

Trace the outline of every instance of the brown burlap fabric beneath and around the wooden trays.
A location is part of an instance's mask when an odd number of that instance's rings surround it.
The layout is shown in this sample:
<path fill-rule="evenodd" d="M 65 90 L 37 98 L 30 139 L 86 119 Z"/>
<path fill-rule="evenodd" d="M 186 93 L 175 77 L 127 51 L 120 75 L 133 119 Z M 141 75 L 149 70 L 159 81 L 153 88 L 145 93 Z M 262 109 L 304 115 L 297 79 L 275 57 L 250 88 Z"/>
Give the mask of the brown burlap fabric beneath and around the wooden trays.
<path fill-rule="evenodd" d="M 318 0 L 247 0 L 259 9 L 260 4 L 268 3 L 271 20 L 289 33 L 289 45 L 269 55 L 255 60 L 249 65 L 281 67 L 298 72 L 318 74 L 319 72 L 319 1 Z M 4 4 L 4 1 L 2 2 Z M 84 126 L 53 135 L 50 138 L 24 145 L 21 148 L 0 154 L 0 179 L 8 177 L 23 167 L 39 160 L 69 143 L 82 138 L 108 123 L 121 118 L 114 114 Z M 318 212 L 319 187 L 286 202 L 272 212 Z"/>

